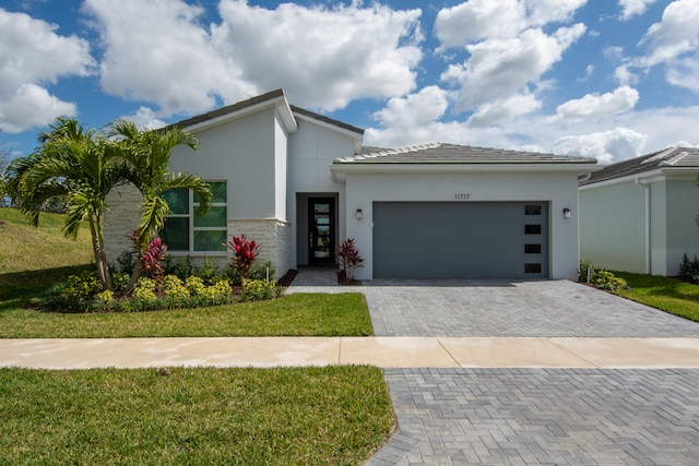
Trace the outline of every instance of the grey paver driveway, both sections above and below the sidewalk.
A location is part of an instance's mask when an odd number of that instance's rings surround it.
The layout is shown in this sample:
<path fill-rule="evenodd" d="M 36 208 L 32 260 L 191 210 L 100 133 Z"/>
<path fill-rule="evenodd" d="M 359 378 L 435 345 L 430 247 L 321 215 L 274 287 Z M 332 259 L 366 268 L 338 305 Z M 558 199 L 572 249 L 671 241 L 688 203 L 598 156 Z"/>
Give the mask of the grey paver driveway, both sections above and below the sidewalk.
<path fill-rule="evenodd" d="M 697 323 L 571 282 L 372 280 L 356 290 L 377 335 L 699 337 Z M 387 369 L 386 378 L 400 432 L 370 466 L 699 464 L 696 369 Z"/>

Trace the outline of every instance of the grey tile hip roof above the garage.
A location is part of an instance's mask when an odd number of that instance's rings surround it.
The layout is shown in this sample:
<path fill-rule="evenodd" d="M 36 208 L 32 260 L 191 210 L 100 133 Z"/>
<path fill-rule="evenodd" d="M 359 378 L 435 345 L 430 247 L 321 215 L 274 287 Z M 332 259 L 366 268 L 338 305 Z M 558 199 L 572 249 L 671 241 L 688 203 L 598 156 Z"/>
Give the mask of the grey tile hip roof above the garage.
<path fill-rule="evenodd" d="M 364 147 L 360 155 L 337 158 L 335 164 L 595 164 L 594 158 L 537 152 L 474 147 L 458 144 L 424 144 L 399 150 Z"/>

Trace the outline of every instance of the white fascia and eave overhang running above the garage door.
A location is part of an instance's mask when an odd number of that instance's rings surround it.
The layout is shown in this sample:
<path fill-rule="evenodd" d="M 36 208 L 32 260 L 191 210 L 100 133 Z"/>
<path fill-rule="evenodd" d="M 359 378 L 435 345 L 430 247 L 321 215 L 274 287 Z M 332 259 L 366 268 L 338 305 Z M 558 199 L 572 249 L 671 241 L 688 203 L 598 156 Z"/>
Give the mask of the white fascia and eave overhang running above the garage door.
<path fill-rule="evenodd" d="M 601 170 L 596 164 L 352 164 L 330 166 L 333 181 L 344 182 L 348 174 L 574 174 Z"/>

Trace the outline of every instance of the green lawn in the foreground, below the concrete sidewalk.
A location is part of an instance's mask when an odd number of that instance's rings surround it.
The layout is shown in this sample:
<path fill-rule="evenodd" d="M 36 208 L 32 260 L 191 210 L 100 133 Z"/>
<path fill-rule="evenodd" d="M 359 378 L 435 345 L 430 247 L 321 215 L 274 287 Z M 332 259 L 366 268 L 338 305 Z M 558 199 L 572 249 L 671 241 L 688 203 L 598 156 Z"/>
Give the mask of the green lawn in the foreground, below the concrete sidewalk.
<path fill-rule="evenodd" d="M 359 465 L 394 425 L 372 367 L 0 369 L 0 464 Z"/>

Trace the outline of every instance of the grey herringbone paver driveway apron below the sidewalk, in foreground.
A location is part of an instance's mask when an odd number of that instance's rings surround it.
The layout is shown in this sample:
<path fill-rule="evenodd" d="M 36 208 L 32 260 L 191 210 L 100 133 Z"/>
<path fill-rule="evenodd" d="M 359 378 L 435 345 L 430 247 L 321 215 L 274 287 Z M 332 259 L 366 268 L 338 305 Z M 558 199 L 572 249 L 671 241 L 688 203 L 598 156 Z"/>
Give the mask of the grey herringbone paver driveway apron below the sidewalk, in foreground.
<path fill-rule="evenodd" d="M 379 465 L 696 465 L 699 370 L 387 369 Z"/>

